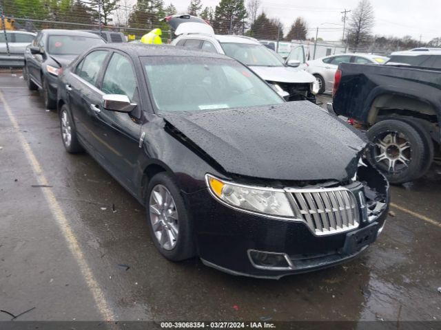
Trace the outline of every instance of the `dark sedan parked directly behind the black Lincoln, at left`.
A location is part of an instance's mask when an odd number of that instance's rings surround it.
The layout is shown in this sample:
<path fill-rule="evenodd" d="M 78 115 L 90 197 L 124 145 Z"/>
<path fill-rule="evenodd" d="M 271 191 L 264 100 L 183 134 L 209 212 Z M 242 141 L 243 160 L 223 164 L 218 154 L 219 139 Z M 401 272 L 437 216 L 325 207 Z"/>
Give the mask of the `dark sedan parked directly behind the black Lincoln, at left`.
<path fill-rule="evenodd" d="M 42 89 L 45 107 L 54 109 L 60 69 L 88 48 L 104 43 L 99 36 L 88 32 L 41 30 L 25 49 L 23 76 L 28 88 Z"/>

